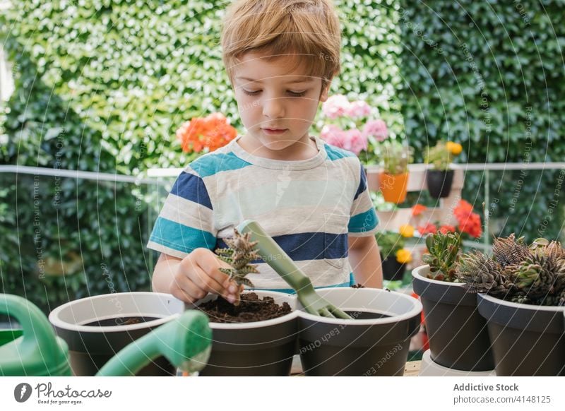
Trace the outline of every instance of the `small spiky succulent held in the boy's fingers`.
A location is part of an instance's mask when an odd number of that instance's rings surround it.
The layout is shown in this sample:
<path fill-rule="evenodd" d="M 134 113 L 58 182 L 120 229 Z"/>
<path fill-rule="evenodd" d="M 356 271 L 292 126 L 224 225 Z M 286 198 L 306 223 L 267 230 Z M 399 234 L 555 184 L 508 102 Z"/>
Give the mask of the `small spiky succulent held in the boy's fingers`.
<path fill-rule="evenodd" d="M 259 258 L 257 251 L 254 249 L 257 242 L 249 241 L 251 233 L 239 234 L 234 228 L 234 237 L 225 239 L 227 249 L 216 249 L 215 253 L 218 257 L 230 264 L 232 268 L 220 268 L 222 273 L 230 276 L 237 284 L 254 287 L 249 279 L 245 278 L 249 273 L 258 273 L 257 264 L 250 264 Z"/>

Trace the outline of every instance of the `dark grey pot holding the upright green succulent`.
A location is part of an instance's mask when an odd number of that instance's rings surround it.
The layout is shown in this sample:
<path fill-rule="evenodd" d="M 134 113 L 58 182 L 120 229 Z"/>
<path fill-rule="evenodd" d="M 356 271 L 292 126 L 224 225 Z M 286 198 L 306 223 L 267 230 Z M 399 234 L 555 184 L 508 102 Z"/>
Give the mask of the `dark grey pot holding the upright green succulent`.
<path fill-rule="evenodd" d="M 412 287 L 424 306 L 429 350 L 436 364 L 460 371 L 494 369 L 487 322 L 475 294 L 463 285 L 426 278 L 429 266 L 412 271 Z"/>

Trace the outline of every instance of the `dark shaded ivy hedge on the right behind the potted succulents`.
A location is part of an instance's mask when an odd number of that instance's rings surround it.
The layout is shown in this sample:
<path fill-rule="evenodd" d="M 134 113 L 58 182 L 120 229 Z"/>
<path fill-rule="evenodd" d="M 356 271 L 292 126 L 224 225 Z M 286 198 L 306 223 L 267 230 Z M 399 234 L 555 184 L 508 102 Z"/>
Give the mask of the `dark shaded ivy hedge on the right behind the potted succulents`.
<path fill-rule="evenodd" d="M 459 162 L 563 160 L 563 1 L 399 3 L 401 109 L 417 155 L 444 138 L 463 144 Z M 561 174 L 491 172 L 493 234 L 558 238 Z M 467 174 L 463 196 L 475 205 L 484 201 L 485 179 Z"/>

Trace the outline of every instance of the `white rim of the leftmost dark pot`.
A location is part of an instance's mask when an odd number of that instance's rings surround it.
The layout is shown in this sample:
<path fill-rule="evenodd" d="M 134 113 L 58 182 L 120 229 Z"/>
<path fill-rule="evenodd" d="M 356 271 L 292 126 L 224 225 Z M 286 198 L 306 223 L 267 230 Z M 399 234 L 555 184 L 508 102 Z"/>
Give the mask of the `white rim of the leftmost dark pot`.
<path fill-rule="evenodd" d="M 123 333 L 124 331 L 133 331 L 133 330 L 142 330 L 144 328 L 155 328 L 160 326 L 164 323 L 171 321 L 174 318 L 180 316 L 181 312 L 171 314 L 169 316 L 157 318 L 153 321 L 145 321 L 144 323 L 136 323 L 136 324 L 129 324 L 125 326 L 83 326 L 80 324 L 73 324 L 61 319 L 61 314 L 64 313 L 66 310 L 72 310 L 73 306 L 80 304 L 82 302 L 90 300 L 91 302 L 95 302 L 97 300 L 104 300 L 104 299 L 120 299 L 121 297 L 155 297 L 157 300 L 175 300 L 178 304 L 182 304 L 182 302 L 173 297 L 172 294 L 166 294 L 162 292 L 114 292 L 111 294 L 101 294 L 95 295 L 93 297 L 84 297 L 81 299 L 75 299 L 73 301 L 67 302 L 58 306 L 56 309 L 49 313 L 49 322 L 52 326 L 61 328 L 63 330 L 69 331 L 76 331 L 79 333 Z M 160 315 L 160 314 L 155 314 Z M 119 313 L 119 316 L 151 316 L 151 314 L 147 313 L 130 313 L 129 311 Z M 74 317 L 74 316 L 73 316 Z M 117 318 L 115 314 L 111 316 L 100 316 L 96 318 L 97 321 L 103 321 L 108 318 Z"/>

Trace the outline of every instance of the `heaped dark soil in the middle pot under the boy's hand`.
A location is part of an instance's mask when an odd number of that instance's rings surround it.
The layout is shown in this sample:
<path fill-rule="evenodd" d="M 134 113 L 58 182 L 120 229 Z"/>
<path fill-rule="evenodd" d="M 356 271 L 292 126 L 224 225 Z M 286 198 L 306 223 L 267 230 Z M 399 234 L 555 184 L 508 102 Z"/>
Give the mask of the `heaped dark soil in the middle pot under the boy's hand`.
<path fill-rule="evenodd" d="M 283 302 L 282 305 L 275 303 L 273 297 L 260 299 L 254 292 L 241 295 L 238 305 L 227 302 L 222 297 L 205 302 L 198 306 L 214 323 L 249 323 L 253 321 L 265 321 L 289 314 L 290 305 Z"/>

